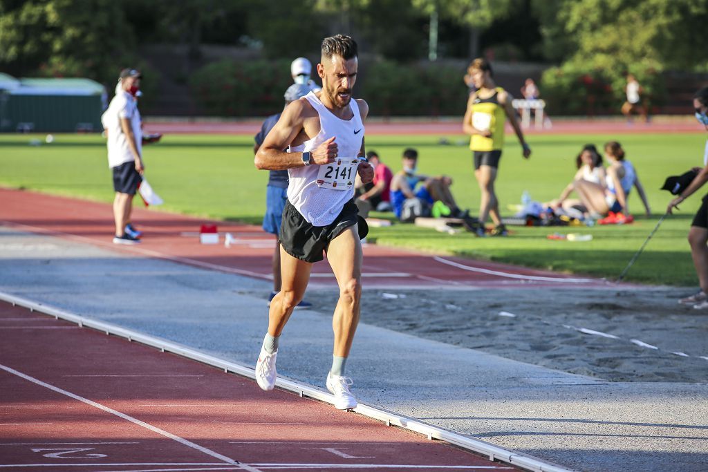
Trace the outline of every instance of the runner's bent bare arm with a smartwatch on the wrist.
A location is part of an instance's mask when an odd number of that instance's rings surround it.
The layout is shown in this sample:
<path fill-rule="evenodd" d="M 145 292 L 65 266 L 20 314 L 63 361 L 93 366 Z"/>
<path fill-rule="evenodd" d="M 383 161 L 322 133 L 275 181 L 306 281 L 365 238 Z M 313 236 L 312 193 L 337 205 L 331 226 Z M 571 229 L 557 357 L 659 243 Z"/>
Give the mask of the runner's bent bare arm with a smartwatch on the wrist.
<path fill-rule="evenodd" d="M 285 107 L 280 120 L 275 123 L 261 148 L 256 152 L 254 163 L 258 169 L 269 171 L 284 171 L 285 169 L 303 167 L 302 152 L 285 152 L 300 132 L 304 129 L 304 121 L 311 105 L 306 100 L 295 100 Z M 313 149 L 312 163 L 326 164 L 334 161 L 337 155 L 337 144 L 334 137 Z"/>

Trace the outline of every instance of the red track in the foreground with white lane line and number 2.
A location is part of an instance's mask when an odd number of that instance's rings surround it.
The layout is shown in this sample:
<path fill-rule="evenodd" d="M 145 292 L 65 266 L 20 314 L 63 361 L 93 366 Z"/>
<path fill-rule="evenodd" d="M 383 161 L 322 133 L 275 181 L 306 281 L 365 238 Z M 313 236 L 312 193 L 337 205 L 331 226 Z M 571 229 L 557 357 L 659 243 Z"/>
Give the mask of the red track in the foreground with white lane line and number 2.
<path fill-rule="evenodd" d="M 519 470 L 0 302 L 4 471 Z"/>

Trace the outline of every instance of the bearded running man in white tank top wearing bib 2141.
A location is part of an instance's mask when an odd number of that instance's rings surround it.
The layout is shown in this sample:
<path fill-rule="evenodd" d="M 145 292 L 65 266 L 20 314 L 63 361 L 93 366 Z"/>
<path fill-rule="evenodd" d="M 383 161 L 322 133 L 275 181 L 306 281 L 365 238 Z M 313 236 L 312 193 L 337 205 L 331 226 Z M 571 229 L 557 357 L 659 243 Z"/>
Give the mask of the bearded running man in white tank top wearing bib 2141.
<path fill-rule="evenodd" d="M 356 42 L 343 35 L 325 38 L 317 74 L 322 90 L 310 92 L 283 110 L 256 153 L 256 168 L 287 169 L 290 185 L 280 228 L 282 288 L 270 302 L 268 333 L 256 363 L 263 390 L 275 386 L 275 359 L 285 323 L 302 300 L 312 265 L 327 255 L 339 285 L 332 328 L 334 349 L 326 386 L 340 410 L 355 408 L 352 380 L 344 367 L 359 322 L 362 246 L 354 205 L 354 180 L 374 178 L 364 157 L 364 120 L 369 106 L 352 100 L 358 71 Z M 287 151 L 282 151 L 286 149 Z"/>

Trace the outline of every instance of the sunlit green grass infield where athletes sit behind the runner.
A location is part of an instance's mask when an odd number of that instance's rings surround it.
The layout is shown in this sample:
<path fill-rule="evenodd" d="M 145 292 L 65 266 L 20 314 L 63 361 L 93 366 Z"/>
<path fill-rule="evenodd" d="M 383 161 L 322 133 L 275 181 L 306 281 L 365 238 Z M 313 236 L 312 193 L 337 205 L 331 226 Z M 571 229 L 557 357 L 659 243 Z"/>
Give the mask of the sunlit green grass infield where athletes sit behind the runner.
<path fill-rule="evenodd" d="M 41 145 L 31 146 L 32 139 Z M 446 173 L 459 205 L 479 205 L 479 190 L 472 174 L 472 158 L 462 136 L 448 136 L 452 145 L 438 144 L 437 136 L 371 136 L 367 149 L 375 149 L 394 171 L 400 168 L 403 149 L 418 149 L 421 173 Z M 668 192 L 658 190 L 667 175 L 683 173 L 702 164 L 704 134 L 536 135 L 529 142 L 530 161 L 520 156 L 515 139 L 508 139 L 497 192 L 503 214 L 517 204 L 524 190 L 538 201 L 557 197 L 575 172 L 575 156 L 583 144 L 602 146 L 617 139 L 634 163 L 649 195 L 652 217 L 644 217 L 636 192 L 629 199 L 636 222 L 627 226 L 513 227 L 508 238 L 474 238 L 472 234 L 447 235 L 413 225 L 372 228 L 370 241 L 435 253 L 588 274 L 614 280 L 641 246 L 666 210 Z M 168 135 L 146 146 L 147 178 L 165 200 L 163 211 L 259 224 L 265 208 L 265 171 L 253 167 L 251 137 L 222 135 Z M 57 195 L 111 202 L 113 188 L 105 140 L 97 135 L 58 134 L 52 144 L 44 135 L 0 135 L 0 185 Z M 703 192 L 691 197 L 681 212 L 667 218 L 627 280 L 671 285 L 696 285 L 686 234 Z M 383 215 L 377 215 L 383 216 Z M 106 216 L 109 217 L 108 215 Z M 548 234 L 582 232 L 593 241 L 551 241 Z"/>

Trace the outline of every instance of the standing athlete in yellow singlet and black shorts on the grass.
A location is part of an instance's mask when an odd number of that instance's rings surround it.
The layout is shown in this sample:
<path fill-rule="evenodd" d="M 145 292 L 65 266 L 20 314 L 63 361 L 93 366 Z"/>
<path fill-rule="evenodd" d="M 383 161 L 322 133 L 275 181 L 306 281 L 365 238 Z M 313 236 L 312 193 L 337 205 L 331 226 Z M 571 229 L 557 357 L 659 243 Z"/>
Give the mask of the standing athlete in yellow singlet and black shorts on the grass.
<path fill-rule="evenodd" d="M 504 123 L 508 117 L 511 126 L 523 148 L 523 156 L 528 159 L 531 148 L 524 140 L 516 114 L 511 106 L 509 93 L 497 87 L 492 79 L 491 65 L 486 59 L 474 59 L 469 64 L 467 74 L 472 78 L 476 91 L 469 96 L 467 113 L 464 114 L 462 129 L 472 135 L 469 149 L 474 156 L 474 176 L 479 183 L 479 223 L 477 236 L 484 236 L 484 224 L 488 217 L 494 223 L 492 236 L 506 236 L 506 227 L 499 216 L 499 202 L 494 193 L 494 180 L 504 145 Z"/>

